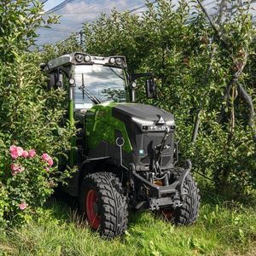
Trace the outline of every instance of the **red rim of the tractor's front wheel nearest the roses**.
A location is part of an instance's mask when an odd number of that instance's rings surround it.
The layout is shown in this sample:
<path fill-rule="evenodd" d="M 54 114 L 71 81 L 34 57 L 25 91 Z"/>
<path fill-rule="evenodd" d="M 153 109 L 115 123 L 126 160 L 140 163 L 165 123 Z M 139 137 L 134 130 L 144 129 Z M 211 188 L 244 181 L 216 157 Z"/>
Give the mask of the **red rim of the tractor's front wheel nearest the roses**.
<path fill-rule="evenodd" d="M 97 230 L 101 224 L 98 201 L 99 198 L 96 190 L 90 189 L 85 196 L 86 215 L 90 226 L 95 230 Z"/>

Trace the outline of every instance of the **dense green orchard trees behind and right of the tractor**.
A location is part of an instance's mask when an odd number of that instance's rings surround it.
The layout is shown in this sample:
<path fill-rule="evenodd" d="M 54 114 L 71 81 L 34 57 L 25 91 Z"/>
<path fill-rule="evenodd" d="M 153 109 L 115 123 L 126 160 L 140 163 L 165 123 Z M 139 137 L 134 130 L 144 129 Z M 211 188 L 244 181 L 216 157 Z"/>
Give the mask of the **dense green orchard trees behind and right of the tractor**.
<path fill-rule="evenodd" d="M 248 6 L 239 1 L 232 1 L 232 9 L 218 6 L 214 22 L 220 39 L 196 1 L 179 1 L 177 8 L 165 0 L 146 4 L 148 10 L 140 16 L 113 9 L 111 15 L 84 24 L 86 51 L 126 55 L 131 73 L 153 72 L 158 99 L 147 100 L 143 83 L 138 83 L 137 101 L 175 114 L 181 160 L 192 158 L 195 170 L 212 177 L 219 191 L 232 185 L 236 189 L 230 192 L 249 192 L 255 185 L 253 120 L 234 79 L 238 74 L 255 105 L 255 28 Z M 229 84 L 234 94 L 225 101 Z M 197 115 L 200 131 L 191 143 Z"/>

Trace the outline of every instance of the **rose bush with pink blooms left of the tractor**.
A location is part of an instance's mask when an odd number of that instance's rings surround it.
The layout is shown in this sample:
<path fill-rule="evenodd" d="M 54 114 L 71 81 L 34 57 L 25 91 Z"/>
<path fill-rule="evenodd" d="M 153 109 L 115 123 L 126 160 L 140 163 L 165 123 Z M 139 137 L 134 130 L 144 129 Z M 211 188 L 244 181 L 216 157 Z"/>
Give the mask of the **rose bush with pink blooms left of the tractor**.
<path fill-rule="evenodd" d="M 32 215 L 41 214 L 55 187 L 76 171 L 57 172 L 58 162 L 49 154 L 56 151 L 51 145 L 46 151 L 38 144 L 37 148 L 17 144 L 2 147 L 0 154 L 0 226 L 4 227 L 24 224 Z"/>

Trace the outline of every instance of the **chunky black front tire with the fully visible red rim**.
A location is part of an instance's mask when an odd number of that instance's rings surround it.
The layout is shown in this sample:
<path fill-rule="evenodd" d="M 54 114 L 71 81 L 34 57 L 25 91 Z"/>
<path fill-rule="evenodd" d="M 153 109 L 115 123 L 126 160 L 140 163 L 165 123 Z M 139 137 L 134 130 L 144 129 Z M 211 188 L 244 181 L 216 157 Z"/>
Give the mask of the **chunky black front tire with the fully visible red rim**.
<path fill-rule="evenodd" d="M 96 218 L 100 222 L 98 226 L 94 222 L 90 223 L 91 211 L 88 207 L 90 207 L 91 191 L 95 191 L 97 196 L 92 212 L 96 212 Z M 84 213 L 93 230 L 98 230 L 102 236 L 108 238 L 124 234 L 128 222 L 127 201 L 122 184 L 113 173 L 96 172 L 85 176 L 80 189 L 79 203 L 81 212 Z"/>

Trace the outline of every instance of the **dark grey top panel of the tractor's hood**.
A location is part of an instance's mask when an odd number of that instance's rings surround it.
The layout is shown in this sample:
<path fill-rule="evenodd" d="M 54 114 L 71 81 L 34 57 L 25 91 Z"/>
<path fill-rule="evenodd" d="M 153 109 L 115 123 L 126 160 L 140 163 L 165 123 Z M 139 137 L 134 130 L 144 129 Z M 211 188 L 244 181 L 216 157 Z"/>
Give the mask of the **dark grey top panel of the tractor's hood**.
<path fill-rule="evenodd" d="M 119 103 L 112 111 L 113 117 L 140 125 L 175 125 L 172 113 L 151 105 Z"/>

